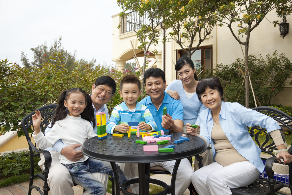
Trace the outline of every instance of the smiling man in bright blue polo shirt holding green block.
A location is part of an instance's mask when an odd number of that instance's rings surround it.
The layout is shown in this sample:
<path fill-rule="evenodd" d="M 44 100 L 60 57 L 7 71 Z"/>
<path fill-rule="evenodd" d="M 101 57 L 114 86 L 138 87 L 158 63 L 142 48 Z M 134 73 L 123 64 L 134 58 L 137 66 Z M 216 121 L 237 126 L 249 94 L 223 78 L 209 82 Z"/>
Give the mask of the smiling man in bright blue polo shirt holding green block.
<path fill-rule="evenodd" d="M 140 101 L 147 106 L 157 125 L 157 130 L 183 132 L 183 105 L 173 99 L 165 91 L 165 74 L 159 68 L 149 68 L 144 73 L 144 84 L 149 96 Z M 167 115 L 163 115 L 163 108 Z M 150 166 L 161 166 L 172 173 L 175 161 L 151 163 Z M 181 160 L 175 179 L 175 194 L 181 195 L 191 183 L 192 165 L 187 158 Z"/>

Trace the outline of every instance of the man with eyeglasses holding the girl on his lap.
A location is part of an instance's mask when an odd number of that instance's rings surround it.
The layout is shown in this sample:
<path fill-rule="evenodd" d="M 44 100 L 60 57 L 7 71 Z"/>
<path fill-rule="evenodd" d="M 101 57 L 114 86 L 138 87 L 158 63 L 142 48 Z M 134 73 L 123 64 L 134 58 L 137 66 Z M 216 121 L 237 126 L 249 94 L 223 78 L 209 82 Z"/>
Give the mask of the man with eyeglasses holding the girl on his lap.
<path fill-rule="evenodd" d="M 107 110 L 106 103 L 112 98 L 112 95 L 116 92 L 117 84 L 109 76 L 101 76 L 95 80 L 92 85 L 91 96 L 92 106 L 94 112 L 105 112 L 106 122 L 109 120 L 109 113 Z M 48 132 L 51 128 L 46 128 Z M 93 131 L 97 133 L 97 126 L 94 127 Z M 74 186 L 72 178 L 69 174 L 68 169 L 59 162 L 59 153 L 64 155 L 70 161 L 78 161 L 83 157 L 83 153 L 76 151 L 75 148 L 81 146 L 81 144 L 74 144 L 71 146 L 65 146 L 61 140 L 56 142 L 52 147 L 46 149 L 51 152 L 52 164 L 49 167 L 48 174 L 48 185 L 53 195 L 74 195 Z M 39 161 L 39 166 L 44 170 L 44 157 L 40 155 L 41 160 Z M 100 182 L 102 182 L 105 187 L 107 187 L 108 174 L 105 173 L 92 173 Z M 83 195 L 88 195 L 85 191 Z"/>

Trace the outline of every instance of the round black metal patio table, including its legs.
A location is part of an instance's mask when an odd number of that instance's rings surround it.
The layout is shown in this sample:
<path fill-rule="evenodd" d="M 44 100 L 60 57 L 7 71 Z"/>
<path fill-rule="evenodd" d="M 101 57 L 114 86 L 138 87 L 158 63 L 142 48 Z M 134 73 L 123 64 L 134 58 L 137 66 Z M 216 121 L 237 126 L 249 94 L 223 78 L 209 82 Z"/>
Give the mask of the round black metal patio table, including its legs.
<path fill-rule="evenodd" d="M 181 159 L 190 156 L 196 156 L 196 159 L 198 159 L 199 154 L 206 151 L 207 146 L 203 139 L 189 134 L 187 134 L 187 137 L 190 138 L 190 141 L 174 144 L 173 141 L 180 139 L 182 133 L 169 132 L 169 134 L 173 136 L 169 140 L 169 143 L 158 145 L 158 148 L 172 144 L 175 145 L 174 152 L 159 153 L 158 151 L 143 151 L 143 146 L 157 145 L 157 142 L 147 143 L 145 145 L 137 144 L 135 140 L 142 140 L 142 135 L 137 137 L 137 135 L 133 134 L 131 137 L 127 137 L 126 135 L 124 137 L 113 137 L 109 134 L 107 138 L 101 140 L 97 136 L 92 137 L 84 142 L 82 152 L 91 158 L 109 161 L 111 163 L 116 180 L 117 194 L 121 190 L 123 194 L 131 195 L 132 193 L 126 191 L 125 187 L 134 183 L 139 183 L 139 195 L 149 194 L 150 183 L 164 188 L 164 191 L 158 193 L 159 195 L 166 195 L 168 193 L 175 194 L 175 177 Z M 150 179 L 150 163 L 172 160 L 176 160 L 176 162 L 173 168 L 170 186 L 167 186 L 162 181 Z M 120 184 L 116 163 L 138 163 L 139 178 Z"/>

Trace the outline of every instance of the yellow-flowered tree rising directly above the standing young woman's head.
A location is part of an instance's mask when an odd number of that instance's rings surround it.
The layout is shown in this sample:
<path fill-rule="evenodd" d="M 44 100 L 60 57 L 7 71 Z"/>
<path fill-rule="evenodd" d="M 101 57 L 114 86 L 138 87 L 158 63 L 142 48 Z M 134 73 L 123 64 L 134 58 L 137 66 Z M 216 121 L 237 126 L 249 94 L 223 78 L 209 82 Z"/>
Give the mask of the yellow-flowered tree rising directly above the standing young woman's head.
<path fill-rule="evenodd" d="M 173 32 L 168 33 L 170 38 L 187 52 L 189 58 L 216 25 L 220 3 L 221 1 L 216 0 L 168 1 L 163 23 L 166 28 L 172 29 Z M 192 51 L 197 34 L 199 39 Z M 187 39 L 187 44 L 184 39 Z"/>

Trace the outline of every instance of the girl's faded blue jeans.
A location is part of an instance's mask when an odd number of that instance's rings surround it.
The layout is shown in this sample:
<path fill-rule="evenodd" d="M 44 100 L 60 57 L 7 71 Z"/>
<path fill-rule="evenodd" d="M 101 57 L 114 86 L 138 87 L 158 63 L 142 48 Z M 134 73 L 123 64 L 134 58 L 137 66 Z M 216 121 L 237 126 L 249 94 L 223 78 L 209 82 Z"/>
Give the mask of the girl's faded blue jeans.
<path fill-rule="evenodd" d="M 114 172 L 109 162 L 99 161 L 93 158 L 88 158 L 84 162 L 63 164 L 69 170 L 74 183 L 84 187 L 89 194 L 104 195 L 107 192 L 105 186 L 98 181 L 91 173 L 107 173 L 114 178 Z M 121 183 L 127 181 L 124 173 L 121 171 L 119 165 L 117 165 L 119 180 Z"/>

